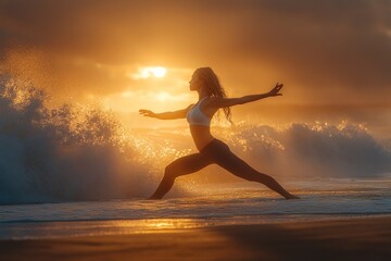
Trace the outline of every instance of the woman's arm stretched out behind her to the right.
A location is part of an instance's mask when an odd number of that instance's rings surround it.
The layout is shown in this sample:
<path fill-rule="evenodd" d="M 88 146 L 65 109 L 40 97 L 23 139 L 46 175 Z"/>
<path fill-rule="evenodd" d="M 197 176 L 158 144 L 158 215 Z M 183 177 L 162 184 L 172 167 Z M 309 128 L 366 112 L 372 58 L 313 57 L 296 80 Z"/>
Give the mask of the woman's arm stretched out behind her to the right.
<path fill-rule="evenodd" d="M 225 107 L 244 104 L 244 103 L 248 103 L 248 102 L 265 99 L 265 98 L 268 98 L 268 97 L 282 96 L 282 94 L 279 94 L 282 86 L 283 86 L 283 84 L 278 84 L 277 83 L 276 86 L 270 91 L 268 91 L 266 94 L 249 95 L 249 96 L 243 96 L 243 97 L 240 97 L 240 98 L 219 98 L 219 99 L 217 98 L 217 99 L 211 101 L 211 103 L 212 103 L 212 105 L 217 107 L 217 108 L 225 108 Z"/>

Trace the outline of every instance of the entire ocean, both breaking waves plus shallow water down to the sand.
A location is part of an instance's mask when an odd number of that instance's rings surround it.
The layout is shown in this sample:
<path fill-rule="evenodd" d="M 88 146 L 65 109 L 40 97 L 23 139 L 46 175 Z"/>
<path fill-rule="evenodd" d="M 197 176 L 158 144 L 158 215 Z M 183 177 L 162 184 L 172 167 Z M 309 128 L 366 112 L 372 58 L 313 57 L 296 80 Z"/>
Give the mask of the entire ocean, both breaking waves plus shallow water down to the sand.
<path fill-rule="evenodd" d="M 370 126 L 216 125 L 235 153 L 301 199 L 209 166 L 149 201 L 165 165 L 197 152 L 187 127 L 127 128 L 97 105 L 51 108 L 35 88 L 0 87 L 0 239 L 391 214 L 391 142 Z"/>

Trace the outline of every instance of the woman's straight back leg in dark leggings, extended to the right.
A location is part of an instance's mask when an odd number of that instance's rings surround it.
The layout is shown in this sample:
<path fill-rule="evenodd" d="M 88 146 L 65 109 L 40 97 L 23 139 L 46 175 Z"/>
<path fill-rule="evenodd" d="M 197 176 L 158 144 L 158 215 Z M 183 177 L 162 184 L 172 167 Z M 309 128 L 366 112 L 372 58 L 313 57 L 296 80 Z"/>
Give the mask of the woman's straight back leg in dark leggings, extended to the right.
<path fill-rule="evenodd" d="M 278 192 L 286 199 L 299 198 L 288 192 L 279 183 L 269 175 L 263 174 L 254 170 L 239 157 L 234 154 L 228 146 L 219 140 L 203 151 L 206 156 L 213 158 L 213 162 L 229 171 L 236 176 L 251 182 L 264 184 L 266 187 Z"/>

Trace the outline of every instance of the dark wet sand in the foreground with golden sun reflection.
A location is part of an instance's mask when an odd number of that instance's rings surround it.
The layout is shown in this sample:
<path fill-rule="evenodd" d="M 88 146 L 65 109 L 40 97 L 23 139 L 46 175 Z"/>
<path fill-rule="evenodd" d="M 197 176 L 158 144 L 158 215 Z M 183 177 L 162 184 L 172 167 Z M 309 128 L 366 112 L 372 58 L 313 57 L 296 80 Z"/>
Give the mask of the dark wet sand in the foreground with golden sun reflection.
<path fill-rule="evenodd" d="M 391 217 L 0 240 L 0 260 L 390 260 Z"/>

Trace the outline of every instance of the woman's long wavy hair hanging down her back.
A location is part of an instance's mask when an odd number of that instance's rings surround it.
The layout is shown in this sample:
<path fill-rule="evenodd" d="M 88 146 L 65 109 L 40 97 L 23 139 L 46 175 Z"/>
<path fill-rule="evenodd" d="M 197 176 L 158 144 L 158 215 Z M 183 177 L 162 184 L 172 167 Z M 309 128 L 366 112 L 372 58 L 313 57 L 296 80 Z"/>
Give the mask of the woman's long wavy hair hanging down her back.
<path fill-rule="evenodd" d="M 203 80 L 204 86 L 206 87 L 206 94 L 209 97 L 218 97 L 226 98 L 227 95 L 217 77 L 211 67 L 199 67 L 194 72 L 194 76 Z M 228 122 L 232 124 L 231 120 L 231 110 L 229 107 L 223 108 L 224 114 Z M 217 119 L 219 116 L 219 111 L 217 111 Z"/>

